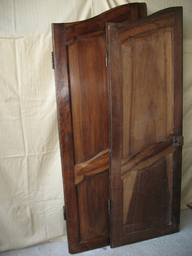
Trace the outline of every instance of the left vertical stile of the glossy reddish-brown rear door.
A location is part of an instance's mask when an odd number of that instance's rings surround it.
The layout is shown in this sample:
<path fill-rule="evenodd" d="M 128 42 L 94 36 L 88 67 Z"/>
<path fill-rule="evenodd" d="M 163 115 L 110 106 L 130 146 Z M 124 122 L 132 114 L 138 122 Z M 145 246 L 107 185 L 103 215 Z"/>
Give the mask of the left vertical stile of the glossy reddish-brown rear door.
<path fill-rule="evenodd" d="M 78 227 L 78 215 L 76 201 L 76 187 L 74 182 L 74 173 L 69 172 L 74 168 L 73 159 L 73 138 L 70 115 L 70 99 L 68 88 L 68 72 L 67 72 L 67 50 L 63 42 L 63 31 L 65 24 L 52 25 L 52 40 L 54 51 L 54 71 L 58 109 L 58 128 L 60 138 L 61 165 L 64 184 L 65 207 L 68 223 L 70 223 L 70 232 L 68 236 L 68 246 L 79 243 L 79 234 L 76 232 Z M 67 195 L 71 195 L 67 200 Z M 71 211 L 69 211 L 71 210 Z"/>

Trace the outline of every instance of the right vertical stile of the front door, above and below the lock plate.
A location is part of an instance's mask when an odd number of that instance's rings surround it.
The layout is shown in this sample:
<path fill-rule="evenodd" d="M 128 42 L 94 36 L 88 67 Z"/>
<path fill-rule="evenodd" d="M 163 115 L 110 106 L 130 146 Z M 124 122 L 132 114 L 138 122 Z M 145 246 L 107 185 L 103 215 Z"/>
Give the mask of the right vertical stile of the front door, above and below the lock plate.
<path fill-rule="evenodd" d="M 182 7 L 175 7 L 175 25 L 173 29 L 173 133 L 182 135 L 182 100 L 183 100 L 183 17 Z M 180 227 L 180 197 L 181 197 L 181 166 L 182 147 L 176 146 L 173 153 L 172 172 L 172 232 L 178 232 Z"/>

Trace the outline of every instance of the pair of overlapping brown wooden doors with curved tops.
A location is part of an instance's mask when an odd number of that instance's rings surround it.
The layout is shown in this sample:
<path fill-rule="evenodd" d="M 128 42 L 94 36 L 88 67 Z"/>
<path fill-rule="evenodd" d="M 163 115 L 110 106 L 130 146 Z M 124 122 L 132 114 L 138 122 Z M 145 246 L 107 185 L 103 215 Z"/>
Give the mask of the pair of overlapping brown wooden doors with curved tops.
<path fill-rule="evenodd" d="M 146 16 L 52 24 L 70 253 L 179 231 L 182 7 Z"/>

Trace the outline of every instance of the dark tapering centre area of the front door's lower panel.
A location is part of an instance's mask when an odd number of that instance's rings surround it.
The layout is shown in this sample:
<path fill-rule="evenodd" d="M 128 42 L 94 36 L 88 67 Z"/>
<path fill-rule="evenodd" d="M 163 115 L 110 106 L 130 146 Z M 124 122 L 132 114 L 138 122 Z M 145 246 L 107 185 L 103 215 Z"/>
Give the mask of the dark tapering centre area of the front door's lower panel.
<path fill-rule="evenodd" d="M 170 220 L 171 196 L 166 159 L 162 157 L 137 172 L 123 233 L 162 227 L 171 224 Z"/>

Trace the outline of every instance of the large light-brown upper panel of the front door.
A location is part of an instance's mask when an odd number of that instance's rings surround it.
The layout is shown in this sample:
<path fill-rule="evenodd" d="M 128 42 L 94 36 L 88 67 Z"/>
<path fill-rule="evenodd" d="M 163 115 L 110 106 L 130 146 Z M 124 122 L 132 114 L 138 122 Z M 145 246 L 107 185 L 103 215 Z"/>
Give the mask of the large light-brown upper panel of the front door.
<path fill-rule="evenodd" d="M 121 45 L 121 56 L 127 67 L 122 69 L 123 157 L 127 157 L 173 132 L 172 27 L 130 36 Z"/>

